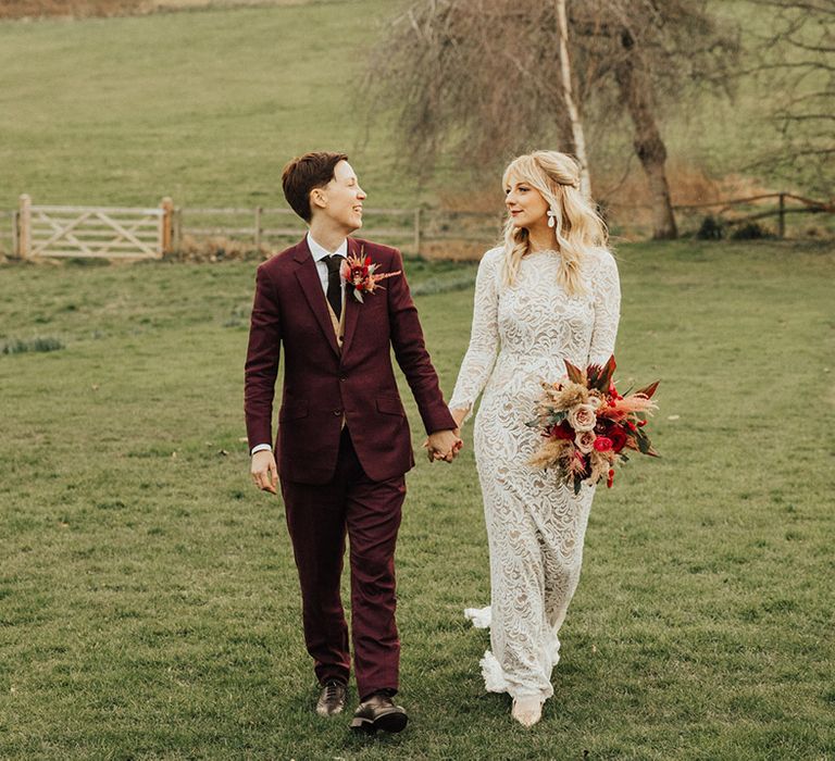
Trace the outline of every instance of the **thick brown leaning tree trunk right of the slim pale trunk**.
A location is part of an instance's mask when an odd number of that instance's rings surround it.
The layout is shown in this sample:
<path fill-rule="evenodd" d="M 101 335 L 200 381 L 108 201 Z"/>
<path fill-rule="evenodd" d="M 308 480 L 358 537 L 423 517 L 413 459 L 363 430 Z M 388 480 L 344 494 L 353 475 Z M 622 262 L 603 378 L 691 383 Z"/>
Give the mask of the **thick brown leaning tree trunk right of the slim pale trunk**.
<path fill-rule="evenodd" d="M 652 203 L 652 237 L 657 240 L 672 240 L 678 237 L 675 214 L 666 182 L 666 147 L 656 124 L 651 89 L 645 77 L 637 71 L 634 59 L 634 40 L 624 32 L 621 37 L 624 59 L 615 68 L 615 78 L 626 110 L 635 127 L 633 146 L 649 182 Z"/>

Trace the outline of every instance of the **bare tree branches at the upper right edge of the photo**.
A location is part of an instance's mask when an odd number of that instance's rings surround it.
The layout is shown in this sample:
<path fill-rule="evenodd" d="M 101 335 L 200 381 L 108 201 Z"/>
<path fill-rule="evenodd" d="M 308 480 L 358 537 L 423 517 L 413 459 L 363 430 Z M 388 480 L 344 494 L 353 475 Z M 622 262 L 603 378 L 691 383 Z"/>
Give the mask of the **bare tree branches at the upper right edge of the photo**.
<path fill-rule="evenodd" d="M 757 0 L 773 15 L 756 74 L 772 100 L 775 150 L 752 166 L 808 192 L 835 196 L 835 0 Z"/>

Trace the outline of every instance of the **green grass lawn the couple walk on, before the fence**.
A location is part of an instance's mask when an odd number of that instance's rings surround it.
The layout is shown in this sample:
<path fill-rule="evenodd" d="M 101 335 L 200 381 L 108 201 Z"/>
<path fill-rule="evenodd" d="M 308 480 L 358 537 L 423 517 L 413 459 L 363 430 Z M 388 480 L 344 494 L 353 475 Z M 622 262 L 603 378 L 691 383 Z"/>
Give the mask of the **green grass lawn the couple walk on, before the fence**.
<path fill-rule="evenodd" d="M 488 639 L 462 616 L 489 596 L 468 431 L 409 476 L 412 724 L 378 740 L 312 713 L 282 506 L 249 483 L 254 265 L 0 267 L 0 347 L 64 347 L 0 352 L 0 758 L 833 758 L 835 255 L 619 262 L 619 377 L 661 378 L 663 459 L 596 499 L 543 723 L 482 691 Z M 416 289 L 472 272 L 408 262 Z M 471 298 L 418 297 L 447 392 Z"/>

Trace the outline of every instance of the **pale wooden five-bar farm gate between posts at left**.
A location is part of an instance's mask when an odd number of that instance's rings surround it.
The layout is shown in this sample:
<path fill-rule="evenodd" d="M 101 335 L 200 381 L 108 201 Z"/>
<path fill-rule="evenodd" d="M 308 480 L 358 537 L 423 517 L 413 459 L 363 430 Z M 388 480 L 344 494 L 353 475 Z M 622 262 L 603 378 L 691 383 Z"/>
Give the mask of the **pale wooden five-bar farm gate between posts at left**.
<path fill-rule="evenodd" d="M 158 208 L 35 205 L 21 196 L 15 251 L 21 259 L 160 259 L 171 249 L 173 203 Z"/>

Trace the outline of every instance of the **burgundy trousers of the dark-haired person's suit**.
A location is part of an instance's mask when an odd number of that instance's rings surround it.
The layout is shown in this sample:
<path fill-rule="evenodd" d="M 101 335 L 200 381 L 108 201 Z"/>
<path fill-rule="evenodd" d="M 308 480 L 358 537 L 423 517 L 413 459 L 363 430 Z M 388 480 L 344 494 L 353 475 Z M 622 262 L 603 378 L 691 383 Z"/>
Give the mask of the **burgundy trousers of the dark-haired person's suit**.
<path fill-rule="evenodd" d="M 397 691 L 400 639 L 395 621 L 395 545 L 406 477 L 371 481 L 346 427 L 331 483 L 282 479 L 282 495 L 301 584 L 304 641 L 316 678 L 320 684 L 328 679 L 347 683 L 350 674 L 348 625 L 339 592 L 347 535 L 357 689 L 360 699 L 378 689 Z"/>

